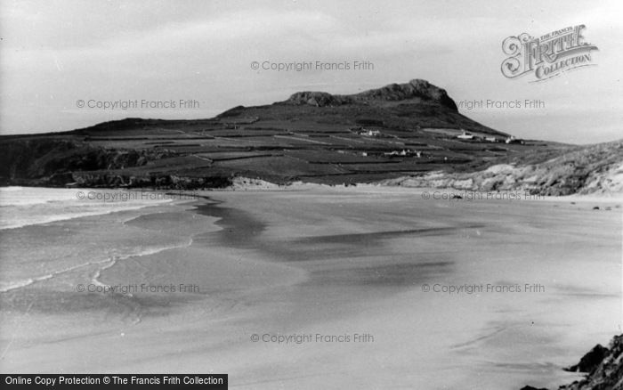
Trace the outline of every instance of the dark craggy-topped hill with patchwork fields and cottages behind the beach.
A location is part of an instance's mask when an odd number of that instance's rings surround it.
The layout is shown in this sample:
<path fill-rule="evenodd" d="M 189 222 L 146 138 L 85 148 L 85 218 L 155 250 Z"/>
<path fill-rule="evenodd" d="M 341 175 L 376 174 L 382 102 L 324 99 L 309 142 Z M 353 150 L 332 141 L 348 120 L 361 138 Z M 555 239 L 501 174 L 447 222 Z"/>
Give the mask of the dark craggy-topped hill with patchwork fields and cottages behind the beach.
<path fill-rule="evenodd" d="M 0 184 L 37 186 L 196 189 L 247 177 L 555 195 L 615 188 L 604 178 L 619 175 L 623 161 L 614 145 L 513 140 L 465 117 L 444 89 L 420 79 L 353 94 L 299 92 L 215 118 L 126 118 L 2 136 L 0 146 Z"/>

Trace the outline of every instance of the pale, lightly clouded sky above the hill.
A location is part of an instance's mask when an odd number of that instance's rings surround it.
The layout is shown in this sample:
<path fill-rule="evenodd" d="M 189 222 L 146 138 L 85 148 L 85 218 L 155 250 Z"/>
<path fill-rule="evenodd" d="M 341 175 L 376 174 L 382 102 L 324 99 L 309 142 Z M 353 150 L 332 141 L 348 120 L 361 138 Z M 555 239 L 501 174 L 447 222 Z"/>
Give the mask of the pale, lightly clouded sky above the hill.
<path fill-rule="evenodd" d="M 620 1 L 2 0 L 0 134 L 211 118 L 297 91 L 423 78 L 456 102 L 485 102 L 459 110 L 520 138 L 614 141 L 623 138 L 621 16 Z M 598 47 L 595 66 L 538 83 L 502 75 L 506 37 L 580 24 Z M 312 69 L 270 69 L 292 62 Z"/>

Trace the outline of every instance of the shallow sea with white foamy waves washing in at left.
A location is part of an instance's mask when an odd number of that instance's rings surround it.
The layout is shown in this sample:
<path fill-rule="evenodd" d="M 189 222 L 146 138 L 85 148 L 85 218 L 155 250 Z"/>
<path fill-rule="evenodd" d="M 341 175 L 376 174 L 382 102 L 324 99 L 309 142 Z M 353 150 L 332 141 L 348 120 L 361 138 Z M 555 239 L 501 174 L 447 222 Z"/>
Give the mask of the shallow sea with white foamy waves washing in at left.
<path fill-rule="evenodd" d="M 179 212 L 194 200 L 157 191 L 0 188 L 0 292 L 103 285 L 101 272 L 119 261 L 190 246 L 190 233 L 171 227 L 197 218 Z"/>

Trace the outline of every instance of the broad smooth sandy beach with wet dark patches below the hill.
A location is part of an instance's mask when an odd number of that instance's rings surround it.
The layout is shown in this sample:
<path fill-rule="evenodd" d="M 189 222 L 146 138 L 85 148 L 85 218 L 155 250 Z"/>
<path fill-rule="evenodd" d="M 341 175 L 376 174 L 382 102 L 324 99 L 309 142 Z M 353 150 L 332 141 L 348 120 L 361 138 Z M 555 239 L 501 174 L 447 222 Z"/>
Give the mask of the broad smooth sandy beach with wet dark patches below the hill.
<path fill-rule="evenodd" d="M 621 329 L 621 201 L 435 191 L 202 191 L 2 230 L 0 370 L 253 389 L 578 378 L 562 368 Z"/>

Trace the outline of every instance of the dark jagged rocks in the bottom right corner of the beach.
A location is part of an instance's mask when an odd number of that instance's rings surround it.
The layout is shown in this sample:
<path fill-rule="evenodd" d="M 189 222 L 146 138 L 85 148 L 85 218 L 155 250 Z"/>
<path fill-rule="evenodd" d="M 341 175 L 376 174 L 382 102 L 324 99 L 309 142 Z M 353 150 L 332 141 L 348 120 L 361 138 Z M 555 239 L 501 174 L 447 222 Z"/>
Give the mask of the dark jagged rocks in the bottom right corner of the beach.
<path fill-rule="evenodd" d="M 586 377 L 558 390 L 623 390 L 623 335 L 615 336 L 607 348 L 595 345 L 567 370 L 584 372 Z M 547 389 L 524 386 L 522 390 Z"/>

